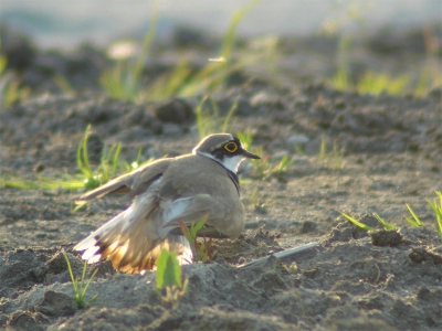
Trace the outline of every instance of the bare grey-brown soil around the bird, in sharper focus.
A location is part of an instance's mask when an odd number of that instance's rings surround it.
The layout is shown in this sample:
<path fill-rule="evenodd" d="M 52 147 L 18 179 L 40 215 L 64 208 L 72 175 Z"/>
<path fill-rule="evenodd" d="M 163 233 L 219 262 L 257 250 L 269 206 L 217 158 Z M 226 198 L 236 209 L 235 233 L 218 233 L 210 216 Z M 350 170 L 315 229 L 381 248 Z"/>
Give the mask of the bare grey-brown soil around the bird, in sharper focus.
<path fill-rule="evenodd" d="M 91 54 L 88 56 L 92 56 Z M 379 55 L 380 56 L 380 55 Z M 379 56 L 375 58 L 379 60 Z M 94 57 L 96 58 L 96 57 Z M 302 57 L 306 58 L 306 56 Z M 308 63 L 312 64 L 312 63 Z M 305 67 L 309 67 L 306 65 Z M 305 70 L 305 68 L 304 68 Z M 294 68 L 295 72 L 295 68 Z M 252 75 L 249 73 L 249 75 Z M 442 238 L 427 200 L 442 190 L 442 89 L 413 97 L 337 92 L 320 83 L 275 86 L 248 77 L 215 96 L 231 131 L 253 135 L 273 164 L 262 179 L 240 170 L 246 229 L 215 241 L 214 260 L 183 267 L 189 290 L 178 308 L 155 291 L 155 275 L 98 268 L 86 309 L 77 309 L 66 264 L 72 247 L 127 207 L 106 197 L 73 212 L 80 192 L 0 188 L 0 325 L 9 330 L 440 330 Z M 78 78 L 80 79 L 80 78 Z M 82 82 L 81 79 L 78 82 Z M 44 83 L 46 84 L 46 83 Z M 50 85 L 50 83 L 48 83 Z M 200 97 L 134 104 L 95 92 L 45 94 L 0 111 L 0 177 L 35 180 L 78 173 L 76 148 L 92 124 L 122 158 L 189 152 L 199 141 Z M 327 153 L 319 154 L 322 141 Z M 333 152 L 334 142 L 340 153 Z M 411 227 L 409 203 L 425 226 Z M 366 233 L 347 211 L 377 226 Z M 371 213 L 398 225 L 382 229 Z M 308 243 L 315 248 L 251 267 L 246 261 Z"/>

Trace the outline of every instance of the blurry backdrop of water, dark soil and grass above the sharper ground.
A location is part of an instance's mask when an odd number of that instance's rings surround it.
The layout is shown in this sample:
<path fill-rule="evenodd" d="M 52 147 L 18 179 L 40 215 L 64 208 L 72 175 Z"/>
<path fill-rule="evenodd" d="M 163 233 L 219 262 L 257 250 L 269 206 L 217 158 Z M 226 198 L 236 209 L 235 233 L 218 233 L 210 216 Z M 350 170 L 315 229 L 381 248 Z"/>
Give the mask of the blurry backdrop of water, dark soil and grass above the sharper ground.
<path fill-rule="evenodd" d="M 0 40 L 3 106 L 46 92 L 158 100 L 252 78 L 373 95 L 442 85 L 441 0 L 1 0 Z"/>

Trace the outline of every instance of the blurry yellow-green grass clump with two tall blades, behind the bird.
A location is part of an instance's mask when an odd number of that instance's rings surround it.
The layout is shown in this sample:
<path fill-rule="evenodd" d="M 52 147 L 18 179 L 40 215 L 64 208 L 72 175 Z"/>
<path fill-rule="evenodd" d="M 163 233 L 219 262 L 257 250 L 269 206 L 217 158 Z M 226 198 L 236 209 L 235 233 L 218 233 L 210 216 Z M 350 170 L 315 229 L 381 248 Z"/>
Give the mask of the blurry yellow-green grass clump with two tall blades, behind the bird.
<path fill-rule="evenodd" d="M 143 84 L 144 64 L 155 39 L 157 24 L 155 9 L 141 52 L 135 61 L 122 58 L 115 63 L 114 67 L 105 71 L 99 78 L 102 88 L 114 98 L 130 100 L 160 100 L 172 95 L 212 94 L 223 88 L 229 75 L 246 67 L 261 56 L 259 54 L 246 60 L 234 60 L 232 56 L 238 25 L 259 2 L 260 0 L 254 0 L 234 13 L 224 34 L 218 60 L 209 60 L 207 65 L 194 73 L 190 70 L 189 61 L 182 60 L 173 70 Z"/>

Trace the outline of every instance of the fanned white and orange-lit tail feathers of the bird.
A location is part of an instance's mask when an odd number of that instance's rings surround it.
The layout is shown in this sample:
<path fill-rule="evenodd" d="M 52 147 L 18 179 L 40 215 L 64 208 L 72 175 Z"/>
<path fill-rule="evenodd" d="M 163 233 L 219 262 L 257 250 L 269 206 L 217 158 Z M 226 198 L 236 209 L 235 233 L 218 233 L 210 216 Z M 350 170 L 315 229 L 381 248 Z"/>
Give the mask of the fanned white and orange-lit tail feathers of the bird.
<path fill-rule="evenodd" d="M 154 184 L 159 184 L 159 182 L 160 179 Z M 122 267 L 128 273 L 140 271 L 143 267 L 151 268 L 148 259 L 139 259 L 138 252 L 145 254 L 146 258 L 150 256 L 155 261 L 155 257 L 159 255 L 161 247 L 177 249 L 180 264 L 192 263 L 192 249 L 186 237 L 168 235 L 169 231 L 162 231 L 160 224 L 157 224 L 179 217 L 191 204 L 191 199 L 159 202 L 162 210 L 159 216 L 155 212 L 152 214 L 152 211 L 158 206 L 157 188 L 158 185 L 154 185 L 151 190 L 136 196 L 126 211 L 97 228 L 78 243 L 74 249 L 84 250 L 82 258 L 90 264 L 97 263 L 102 258 L 108 258 L 113 261 L 114 267 Z M 160 229 L 161 233 L 159 233 Z M 131 261 L 135 265 L 130 265 Z"/>

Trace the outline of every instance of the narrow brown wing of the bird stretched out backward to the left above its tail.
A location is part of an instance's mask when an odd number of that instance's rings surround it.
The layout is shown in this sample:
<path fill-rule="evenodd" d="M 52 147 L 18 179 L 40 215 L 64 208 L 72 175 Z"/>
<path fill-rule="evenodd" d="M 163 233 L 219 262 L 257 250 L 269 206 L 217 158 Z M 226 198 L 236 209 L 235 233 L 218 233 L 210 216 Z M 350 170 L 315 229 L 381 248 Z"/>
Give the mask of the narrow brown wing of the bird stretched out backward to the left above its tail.
<path fill-rule="evenodd" d="M 108 183 L 78 196 L 75 199 L 75 202 L 82 204 L 112 193 L 130 193 L 133 196 L 138 195 L 145 192 L 152 182 L 161 177 L 172 160 L 171 158 L 160 159 L 129 173 L 117 177 Z"/>

